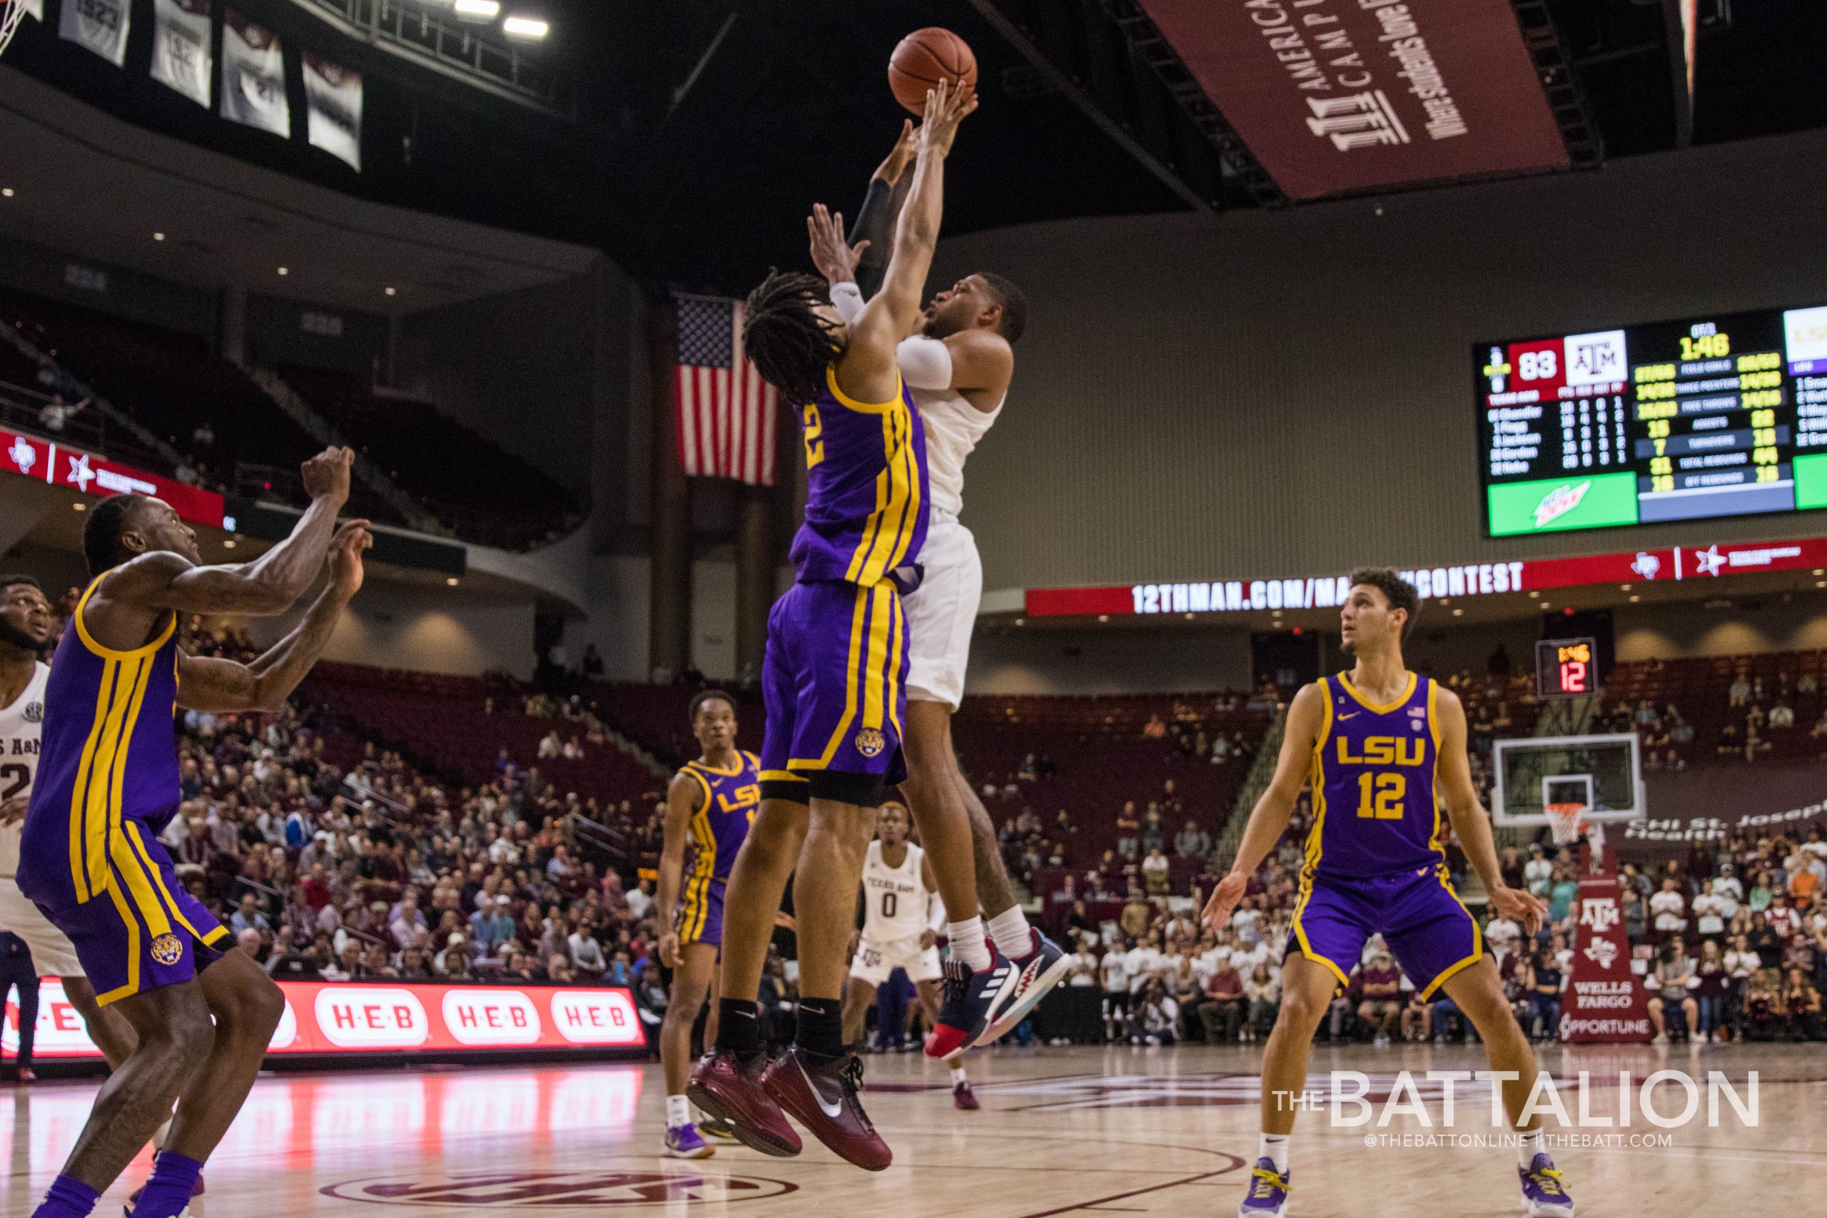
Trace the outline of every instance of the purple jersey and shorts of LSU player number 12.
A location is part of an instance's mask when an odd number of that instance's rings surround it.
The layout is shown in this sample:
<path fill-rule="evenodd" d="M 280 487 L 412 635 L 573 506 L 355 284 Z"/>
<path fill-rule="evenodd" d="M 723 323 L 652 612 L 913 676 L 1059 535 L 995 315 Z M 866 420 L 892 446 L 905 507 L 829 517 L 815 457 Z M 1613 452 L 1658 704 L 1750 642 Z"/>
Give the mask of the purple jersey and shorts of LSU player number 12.
<path fill-rule="evenodd" d="M 1314 745 L 1314 827 L 1288 951 L 1346 984 L 1370 935 L 1381 935 L 1423 999 L 1484 957 L 1478 922 L 1447 875 L 1434 793 L 1438 688 L 1409 674 L 1378 705 L 1339 674 L 1321 681 Z"/>

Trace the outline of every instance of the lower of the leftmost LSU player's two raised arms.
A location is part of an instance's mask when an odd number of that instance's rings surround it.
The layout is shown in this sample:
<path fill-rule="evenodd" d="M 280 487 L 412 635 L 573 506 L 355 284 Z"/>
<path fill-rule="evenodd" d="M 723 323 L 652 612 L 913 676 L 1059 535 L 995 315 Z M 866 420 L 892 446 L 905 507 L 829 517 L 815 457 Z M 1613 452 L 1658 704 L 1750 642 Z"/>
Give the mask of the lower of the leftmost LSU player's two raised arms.
<path fill-rule="evenodd" d="M 179 656 L 177 701 L 190 710 L 217 714 L 276 710 L 292 696 L 336 630 L 336 619 L 362 590 L 362 551 L 375 544 L 365 522 L 351 522 L 331 542 L 331 581 L 311 612 L 283 639 L 252 663 L 214 656 Z"/>

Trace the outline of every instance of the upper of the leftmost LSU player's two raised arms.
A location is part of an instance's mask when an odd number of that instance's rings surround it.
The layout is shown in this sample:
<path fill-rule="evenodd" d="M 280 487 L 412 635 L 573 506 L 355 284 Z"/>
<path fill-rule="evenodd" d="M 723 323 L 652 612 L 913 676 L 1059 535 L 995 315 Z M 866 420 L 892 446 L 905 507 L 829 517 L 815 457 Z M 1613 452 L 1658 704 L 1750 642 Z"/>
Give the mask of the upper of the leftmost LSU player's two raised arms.
<path fill-rule="evenodd" d="M 336 513 L 349 502 L 354 449 L 323 449 L 301 466 L 311 508 L 292 535 L 252 562 L 195 566 L 170 551 L 143 553 L 110 572 L 95 590 L 97 610 L 106 603 L 179 614 L 283 614 L 323 570 L 336 531 Z M 362 520 L 360 524 L 367 524 Z"/>

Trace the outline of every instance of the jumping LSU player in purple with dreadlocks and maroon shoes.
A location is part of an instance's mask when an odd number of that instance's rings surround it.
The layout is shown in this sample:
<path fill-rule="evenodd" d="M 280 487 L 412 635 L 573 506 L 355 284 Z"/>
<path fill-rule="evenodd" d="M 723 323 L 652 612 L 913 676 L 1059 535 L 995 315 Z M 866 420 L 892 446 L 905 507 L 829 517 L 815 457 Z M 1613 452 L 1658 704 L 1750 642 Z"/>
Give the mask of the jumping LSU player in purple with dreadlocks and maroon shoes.
<path fill-rule="evenodd" d="M 800 416 L 809 499 L 793 542 L 798 581 L 767 615 L 762 811 L 723 908 L 716 1048 L 698 1063 L 687 1094 L 758 1150 L 798 1152 L 784 1116 L 791 1112 L 870 1171 L 893 1156 L 859 1101 L 861 1063 L 844 1052 L 846 950 L 882 787 L 904 776 L 901 592 L 919 584 L 930 515 L 924 431 L 895 347 L 919 316 L 939 237 L 945 159 L 972 110 L 974 95 L 945 84 L 928 95 L 888 274 L 855 320 L 831 307 L 824 279 L 775 272 L 749 294 L 742 336 L 745 354 Z M 963 809 L 954 811 L 921 831 L 928 842 L 956 844 L 959 866 L 939 884 L 946 908 L 974 919 L 970 825 Z M 798 1028 L 793 1048 L 764 1065 L 755 995 L 789 875 L 797 875 Z M 985 984 L 966 971 L 959 992 L 968 1003 L 952 1015 L 970 1026 L 988 1023 L 990 977 L 1012 984 L 1007 966 L 996 970 L 988 951 L 981 955 Z"/>

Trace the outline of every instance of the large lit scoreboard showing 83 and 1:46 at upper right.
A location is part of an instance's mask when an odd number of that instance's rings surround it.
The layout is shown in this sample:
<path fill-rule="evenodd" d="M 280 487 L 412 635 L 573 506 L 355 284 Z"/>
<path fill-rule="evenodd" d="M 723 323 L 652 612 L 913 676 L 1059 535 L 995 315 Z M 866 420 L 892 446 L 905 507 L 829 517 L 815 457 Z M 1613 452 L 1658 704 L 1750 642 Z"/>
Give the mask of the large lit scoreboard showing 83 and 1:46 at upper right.
<path fill-rule="evenodd" d="M 1827 307 L 1473 358 L 1491 537 L 1827 508 Z"/>

